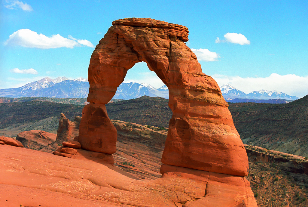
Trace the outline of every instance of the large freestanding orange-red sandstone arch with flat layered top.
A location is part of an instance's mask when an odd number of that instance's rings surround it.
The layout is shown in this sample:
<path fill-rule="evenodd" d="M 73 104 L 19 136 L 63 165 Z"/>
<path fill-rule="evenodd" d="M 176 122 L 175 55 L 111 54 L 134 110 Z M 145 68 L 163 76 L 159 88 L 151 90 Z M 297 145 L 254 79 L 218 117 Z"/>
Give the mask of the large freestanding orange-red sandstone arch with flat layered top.
<path fill-rule="evenodd" d="M 248 159 L 217 83 L 202 73 L 186 46 L 188 29 L 154 19 L 127 18 L 112 23 L 90 60 L 89 105 L 83 109 L 79 142 L 83 149 L 112 154 L 117 132 L 105 104 L 128 69 L 144 61 L 169 88 L 172 118 L 162 162 L 246 176 Z"/>

